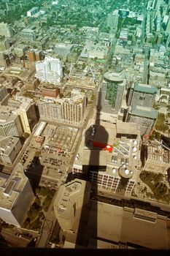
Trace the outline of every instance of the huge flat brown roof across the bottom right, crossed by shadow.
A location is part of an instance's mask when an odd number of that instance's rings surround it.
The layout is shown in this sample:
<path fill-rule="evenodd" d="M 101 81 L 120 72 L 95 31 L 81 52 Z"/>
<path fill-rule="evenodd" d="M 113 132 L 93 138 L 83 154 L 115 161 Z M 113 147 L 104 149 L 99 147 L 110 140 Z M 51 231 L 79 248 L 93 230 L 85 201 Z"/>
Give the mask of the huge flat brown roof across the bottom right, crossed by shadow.
<path fill-rule="evenodd" d="M 169 217 L 163 211 L 115 206 L 109 200 L 89 200 L 82 211 L 80 229 L 66 234 L 64 248 L 169 249 Z"/>

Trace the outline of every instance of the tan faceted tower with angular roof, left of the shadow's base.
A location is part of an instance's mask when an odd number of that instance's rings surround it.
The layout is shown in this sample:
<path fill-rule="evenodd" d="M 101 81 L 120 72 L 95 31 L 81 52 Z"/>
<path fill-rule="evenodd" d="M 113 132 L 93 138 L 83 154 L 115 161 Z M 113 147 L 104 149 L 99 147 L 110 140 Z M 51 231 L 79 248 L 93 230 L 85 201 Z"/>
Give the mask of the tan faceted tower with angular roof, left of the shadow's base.
<path fill-rule="evenodd" d="M 62 230 L 77 232 L 82 206 L 88 203 L 89 198 L 88 181 L 76 178 L 59 188 L 54 201 L 54 211 Z"/>

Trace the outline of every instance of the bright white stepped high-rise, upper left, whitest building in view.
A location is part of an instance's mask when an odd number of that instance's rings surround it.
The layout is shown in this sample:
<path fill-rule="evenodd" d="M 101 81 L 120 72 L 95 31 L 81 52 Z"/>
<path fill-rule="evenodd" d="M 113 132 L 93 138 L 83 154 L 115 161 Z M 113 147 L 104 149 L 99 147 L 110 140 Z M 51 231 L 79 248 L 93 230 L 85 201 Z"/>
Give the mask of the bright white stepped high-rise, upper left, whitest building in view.
<path fill-rule="evenodd" d="M 61 61 L 52 57 L 45 57 L 44 61 L 37 61 L 35 77 L 42 82 L 60 83 L 63 78 Z"/>

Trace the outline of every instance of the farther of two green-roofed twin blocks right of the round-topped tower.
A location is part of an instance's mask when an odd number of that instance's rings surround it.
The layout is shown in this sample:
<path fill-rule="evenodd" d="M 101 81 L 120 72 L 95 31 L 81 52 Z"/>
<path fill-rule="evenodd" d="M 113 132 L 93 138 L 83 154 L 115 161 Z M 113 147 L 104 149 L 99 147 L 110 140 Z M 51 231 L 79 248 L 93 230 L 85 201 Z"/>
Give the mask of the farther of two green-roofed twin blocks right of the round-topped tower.
<path fill-rule="evenodd" d="M 143 83 L 133 83 L 128 95 L 128 105 L 152 107 L 158 89 Z"/>

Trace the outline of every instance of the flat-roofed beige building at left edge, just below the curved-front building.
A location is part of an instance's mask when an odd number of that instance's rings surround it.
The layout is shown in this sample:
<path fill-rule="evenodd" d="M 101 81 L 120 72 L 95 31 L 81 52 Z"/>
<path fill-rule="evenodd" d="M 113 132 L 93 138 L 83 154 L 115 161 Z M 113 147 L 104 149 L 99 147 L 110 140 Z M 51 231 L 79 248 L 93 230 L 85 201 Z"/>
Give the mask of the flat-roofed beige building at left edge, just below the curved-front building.
<path fill-rule="evenodd" d="M 0 136 L 0 161 L 3 164 L 12 164 L 21 148 L 19 138 Z"/>

